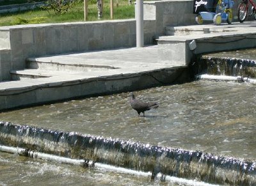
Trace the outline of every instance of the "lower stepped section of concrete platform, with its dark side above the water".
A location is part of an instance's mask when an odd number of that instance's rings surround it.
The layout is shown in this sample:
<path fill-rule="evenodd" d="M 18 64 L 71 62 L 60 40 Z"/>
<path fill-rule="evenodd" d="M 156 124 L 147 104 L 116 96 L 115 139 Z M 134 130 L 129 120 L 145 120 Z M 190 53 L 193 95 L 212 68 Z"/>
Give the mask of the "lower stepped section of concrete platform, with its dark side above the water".
<path fill-rule="evenodd" d="M 188 81 L 187 66 L 160 61 L 157 50 L 154 45 L 28 58 L 39 68 L 14 70 L 19 81 L 0 83 L 0 110 Z"/>

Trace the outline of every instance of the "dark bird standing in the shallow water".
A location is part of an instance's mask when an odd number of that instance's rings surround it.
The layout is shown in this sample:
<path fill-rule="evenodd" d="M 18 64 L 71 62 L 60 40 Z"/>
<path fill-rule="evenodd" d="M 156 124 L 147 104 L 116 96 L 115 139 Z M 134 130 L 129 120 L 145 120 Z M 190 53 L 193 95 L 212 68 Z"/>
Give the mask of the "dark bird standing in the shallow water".
<path fill-rule="evenodd" d="M 134 109 L 135 111 L 138 112 L 139 116 L 140 116 L 140 112 L 143 113 L 143 116 L 145 116 L 145 111 L 149 111 L 150 109 L 156 109 L 157 107 L 159 107 L 159 105 L 157 105 L 156 102 L 150 102 L 150 103 L 146 103 L 146 102 L 141 102 L 140 100 L 137 100 L 134 97 L 134 94 L 131 92 L 130 93 L 130 104 L 132 106 L 132 109 Z"/>

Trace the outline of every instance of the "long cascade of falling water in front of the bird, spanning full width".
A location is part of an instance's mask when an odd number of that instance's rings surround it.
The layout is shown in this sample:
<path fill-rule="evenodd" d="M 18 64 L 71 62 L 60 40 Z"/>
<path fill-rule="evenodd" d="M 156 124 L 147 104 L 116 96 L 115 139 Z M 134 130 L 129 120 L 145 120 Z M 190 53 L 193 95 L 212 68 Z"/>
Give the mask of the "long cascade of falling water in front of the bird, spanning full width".
<path fill-rule="evenodd" d="M 256 161 L 0 122 L 0 144 L 208 183 L 255 185 Z"/>

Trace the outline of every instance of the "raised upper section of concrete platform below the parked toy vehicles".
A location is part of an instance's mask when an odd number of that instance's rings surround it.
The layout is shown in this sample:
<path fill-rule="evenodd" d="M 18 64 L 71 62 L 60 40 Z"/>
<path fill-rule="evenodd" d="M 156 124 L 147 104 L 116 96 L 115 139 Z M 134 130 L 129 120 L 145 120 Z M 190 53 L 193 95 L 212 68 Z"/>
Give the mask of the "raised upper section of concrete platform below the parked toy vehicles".
<path fill-rule="evenodd" d="M 188 65 L 195 54 L 256 47 L 256 22 L 166 27 L 166 33 L 158 40 L 159 56 L 172 64 Z"/>

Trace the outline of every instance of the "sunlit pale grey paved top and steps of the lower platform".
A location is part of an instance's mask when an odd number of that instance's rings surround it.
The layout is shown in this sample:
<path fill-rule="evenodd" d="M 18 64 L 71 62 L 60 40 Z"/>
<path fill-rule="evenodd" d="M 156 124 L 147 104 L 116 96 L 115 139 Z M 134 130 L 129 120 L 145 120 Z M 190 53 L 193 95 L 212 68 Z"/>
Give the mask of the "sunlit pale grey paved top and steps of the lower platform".
<path fill-rule="evenodd" d="M 20 81 L 1 82 L 0 92 L 8 91 L 8 89 L 26 89 L 30 86 L 40 86 L 42 84 L 58 84 L 97 77 L 139 74 L 140 72 L 180 66 L 160 61 L 157 49 L 157 45 L 154 45 L 142 48 L 99 50 L 29 58 L 29 61 L 44 63 L 44 65 L 40 66 L 40 69 L 13 70 L 12 72 L 42 75 L 46 78 L 25 78 L 20 79 Z M 52 64 L 56 64 L 58 69 L 54 70 Z M 62 66 L 61 70 L 59 69 L 60 66 Z M 76 68 L 77 66 L 84 66 L 84 68 L 79 70 Z"/>

